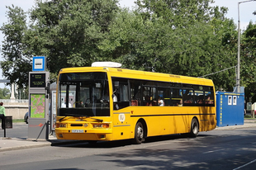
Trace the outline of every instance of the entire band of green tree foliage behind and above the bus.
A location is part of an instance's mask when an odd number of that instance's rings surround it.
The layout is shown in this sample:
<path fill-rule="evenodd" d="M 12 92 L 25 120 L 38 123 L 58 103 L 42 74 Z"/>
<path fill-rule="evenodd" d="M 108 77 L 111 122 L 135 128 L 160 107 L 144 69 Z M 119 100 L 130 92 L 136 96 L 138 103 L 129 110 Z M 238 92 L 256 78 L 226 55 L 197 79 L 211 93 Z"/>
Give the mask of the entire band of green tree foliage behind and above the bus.
<path fill-rule="evenodd" d="M 212 0 L 137 0 L 134 11 L 117 0 L 36 0 L 28 12 L 8 7 L 1 31 L 3 75 L 27 87 L 33 56 L 47 57 L 55 79 L 60 68 L 116 61 L 125 68 L 193 77 L 237 64 L 237 31 L 227 8 Z M 255 25 L 242 36 L 241 85 L 255 90 Z M 213 74 L 216 90 L 232 91 L 235 68 Z M 255 81 L 253 81 L 255 82 Z M 252 95 L 251 95 L 252 96 Z"/>

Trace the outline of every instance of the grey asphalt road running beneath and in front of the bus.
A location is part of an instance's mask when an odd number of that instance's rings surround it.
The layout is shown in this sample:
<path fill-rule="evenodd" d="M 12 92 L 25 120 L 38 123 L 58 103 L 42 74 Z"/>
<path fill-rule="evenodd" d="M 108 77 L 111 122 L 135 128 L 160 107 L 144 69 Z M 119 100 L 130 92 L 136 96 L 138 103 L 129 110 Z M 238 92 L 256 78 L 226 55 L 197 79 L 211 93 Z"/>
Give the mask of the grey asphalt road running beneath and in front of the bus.
<path fill-rule="evenodd" d="M 0 169 L 256 169 L 255 127 L 0 153 Z"/>

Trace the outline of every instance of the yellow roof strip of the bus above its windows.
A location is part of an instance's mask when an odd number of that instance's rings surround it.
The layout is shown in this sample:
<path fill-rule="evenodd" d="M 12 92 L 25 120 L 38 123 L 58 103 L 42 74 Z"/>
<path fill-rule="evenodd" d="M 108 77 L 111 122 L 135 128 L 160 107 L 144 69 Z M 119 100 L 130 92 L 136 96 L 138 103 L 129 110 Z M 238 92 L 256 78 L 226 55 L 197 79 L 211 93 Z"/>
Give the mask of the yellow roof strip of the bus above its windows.
<path fill-rule="evenodd" d="M 118 78 L 133 78 L 154 80 L 169 83 L 190 83 L 201 84 L 206 86 L 213 86 L 211 79 L 194 78 L 188 76 L 181 76 L 168 73 L 155 73 L 140 70 L 133 70 L 127 68 L 108 68 L 108 67 L 76 67 L 76 68 L 62 68 L 59 73 L 83 73 L 83 72 L 108 72 L 111 77 Z"/>

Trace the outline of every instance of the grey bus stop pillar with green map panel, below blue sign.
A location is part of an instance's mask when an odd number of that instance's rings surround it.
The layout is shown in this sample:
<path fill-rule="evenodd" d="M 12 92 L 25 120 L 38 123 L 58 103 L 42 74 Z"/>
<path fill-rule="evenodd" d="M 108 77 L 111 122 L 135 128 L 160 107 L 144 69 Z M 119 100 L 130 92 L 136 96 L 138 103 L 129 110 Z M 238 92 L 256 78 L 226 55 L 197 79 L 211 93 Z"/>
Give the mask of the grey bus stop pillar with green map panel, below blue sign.
<path fill-rule="evenodd" d="M 28 139 L 49 139 L 50 73 L 29 73 Z"/>

